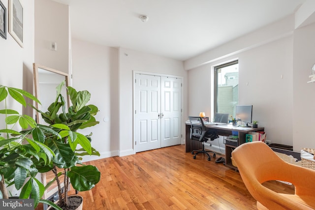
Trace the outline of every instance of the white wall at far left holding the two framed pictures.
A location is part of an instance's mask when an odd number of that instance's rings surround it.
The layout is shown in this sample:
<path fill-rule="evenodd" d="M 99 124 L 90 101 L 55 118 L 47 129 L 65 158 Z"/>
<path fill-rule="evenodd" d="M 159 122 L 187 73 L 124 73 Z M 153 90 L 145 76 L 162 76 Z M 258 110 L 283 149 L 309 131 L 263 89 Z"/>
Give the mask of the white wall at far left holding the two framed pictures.
<path fill-rule="evenodd" d="M 8 1 L 1 1 L 6 7 L 8 21 Z M 6 39 L 0 37 L 0 84 L 15 87 L 32 92 L 32 63 L 34 60 L 34 0 L 20 0 L 23 6 L 23 45 L 20 45 L 8 32 Z M 0 103 L 0 106 L 2 103 Z M 22 111 L 19 103 L 9 104 L 9 108 Z M 32 115 L 32 110 L 24 110 L 24 113 Z M 0 126 L 3 125 L 2 120 Z M 2 126 L 1 126 L 2 127 Z"/>

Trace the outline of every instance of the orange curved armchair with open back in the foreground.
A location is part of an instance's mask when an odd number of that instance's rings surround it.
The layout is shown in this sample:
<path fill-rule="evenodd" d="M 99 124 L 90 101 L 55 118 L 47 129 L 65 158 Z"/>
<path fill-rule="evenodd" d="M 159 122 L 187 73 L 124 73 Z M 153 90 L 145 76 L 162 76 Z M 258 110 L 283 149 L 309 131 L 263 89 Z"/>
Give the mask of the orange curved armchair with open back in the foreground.
<path fill-rule="evenodd" d="M 315 209 L 315 170 L 282 160 L 263 142 L 242 144 L 232 152 L 241 177 L 257 200 L 257 209 Z M 295 186 L 295 194 L 277 193 L 263 186 L 268 180 L 282 180 Z"/>

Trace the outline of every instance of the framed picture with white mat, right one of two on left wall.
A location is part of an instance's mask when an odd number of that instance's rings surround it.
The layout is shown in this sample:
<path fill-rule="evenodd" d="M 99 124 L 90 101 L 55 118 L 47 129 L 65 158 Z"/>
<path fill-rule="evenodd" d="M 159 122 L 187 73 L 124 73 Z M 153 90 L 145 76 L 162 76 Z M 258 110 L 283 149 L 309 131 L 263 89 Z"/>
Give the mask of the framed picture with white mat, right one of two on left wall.
<path fill-rule="evenodd" d="M 9 33 L 23 47 L 23 7 L 20 0 L 9 0 Z"/>

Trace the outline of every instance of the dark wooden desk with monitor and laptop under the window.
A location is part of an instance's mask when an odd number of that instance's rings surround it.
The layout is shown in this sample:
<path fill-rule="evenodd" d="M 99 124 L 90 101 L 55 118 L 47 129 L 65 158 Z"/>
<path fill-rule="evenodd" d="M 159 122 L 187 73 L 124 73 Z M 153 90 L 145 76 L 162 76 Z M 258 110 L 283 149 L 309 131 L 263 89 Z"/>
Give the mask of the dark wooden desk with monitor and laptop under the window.
<path fill-rule="evenodd" d="M 238 145 L 244 144 L 246 139 L 245 135 L 248 132 L 255 131 L 264 131 L 264 127 L 252 128 L 252 127 L 237 127 L 232 124 L 224 124 L 224 125 L 205 125 L 206 129 L 215 129 L 220 136 L 230 136 L 232 135 L 232 131 L 238 131 Z M 190 123 L 186 123 L 186 143 L 185 149 L 186 152 L 190 152 L 192 150 L 199 150 L 202 148 L 202 142 L 198 142 L 190 139 Z M 232 165 L 231 153 L 236 148 L 236 146 L 225 144 L 225 165 L 237 170 L 237 167 Z"/>

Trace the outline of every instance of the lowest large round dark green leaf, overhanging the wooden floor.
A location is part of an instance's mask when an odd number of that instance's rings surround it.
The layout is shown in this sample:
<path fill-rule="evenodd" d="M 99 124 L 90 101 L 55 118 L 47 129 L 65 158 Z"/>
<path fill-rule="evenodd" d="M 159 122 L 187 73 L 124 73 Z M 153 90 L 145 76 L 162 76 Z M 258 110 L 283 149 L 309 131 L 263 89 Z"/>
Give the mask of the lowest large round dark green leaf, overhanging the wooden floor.
<path fill-rule="evenodd" d="M 95 166 L 73 166 L 66 173 L 70 178 L 71 185 L 78 191 L 92 189 L 100 179 L 100 172 Z"/>

